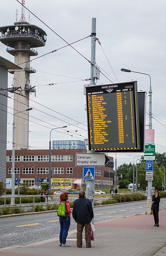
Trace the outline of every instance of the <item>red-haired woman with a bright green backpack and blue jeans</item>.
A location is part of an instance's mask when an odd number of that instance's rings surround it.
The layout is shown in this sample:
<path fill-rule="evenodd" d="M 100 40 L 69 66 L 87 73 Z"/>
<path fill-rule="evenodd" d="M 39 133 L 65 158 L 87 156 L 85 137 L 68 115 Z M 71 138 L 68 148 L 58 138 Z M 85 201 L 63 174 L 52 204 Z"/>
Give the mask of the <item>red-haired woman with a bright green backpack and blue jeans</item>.
<path fill-rule="evenodd" d="M 60 201 L 65 202 L 67 200 L 68 200 L 68 193 L 63 192 L 60 195 Z M 60 246 L 62 246 L 62 247 L 69 247 L 70 246 L 70 245 L 66 244 L 66 238 L 68 236 L 68 230 L 69 230 L 69 227 L 70 227 L 70 213 L 72 212 L 70 210 L 69 202 L 66 202 L 66 208 L 67 208 L 68 216 L 66 216 L 65 218 L 59 217 L 59 222 L 60 222 L 59 241 L 60 241 Z"/>

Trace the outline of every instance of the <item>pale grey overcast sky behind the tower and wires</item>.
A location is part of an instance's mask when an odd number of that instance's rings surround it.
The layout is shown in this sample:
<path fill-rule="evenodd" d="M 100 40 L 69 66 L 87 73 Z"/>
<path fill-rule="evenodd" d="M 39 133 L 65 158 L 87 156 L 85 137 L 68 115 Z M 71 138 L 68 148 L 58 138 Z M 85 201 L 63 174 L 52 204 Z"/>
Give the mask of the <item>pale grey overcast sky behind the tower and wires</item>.
<path fill-rule="evenodd" d="M 166 1 L 25 0 L 25 6 L 68 43 L 89 36 L 91 34 L 91 19 L 96 17 L 96 37 L 100 40 L 119 82 L 137 80 L 138 90 L 147 91 L 147 110 L 149 109 L 149 76 L 124 73 L 120 70 L 125 68 L 151 75 L 152 112 L 153 117 L 157 119 L 153 119 L 156 151 L 165 152 Z M 19 10 L 18 19 L 21 17 L 21 5 L 16 0 L 8 0 L 7 2 L 1 0 L 0 8 L 0 26 L 12 25 L 15 22 L 16 9 Z M 25 10 L 25 18 L 28 21 L 29 13 L 27 10 Z M 38 56 L 66 45 L 62 39 L 32 14 L 30 14 L 30 23 L 41 27 L 47 33 L 45 46 L 37 49 Z M 90 37 L 75 43 L 73 46 L 87 59 L 91 59 Z M 6 52 L 6 46 L 2 43 L 0 43 L 0 55 L 14 62 L 14 57 Z M 34 58 L 31 57 L 31 59 Z M 116 81 L 97 42 L 96 63 L 108 73 L 108 75 L 105 74 L 111 81 Z M 39 111 L 34 109 L 30 111 L 30 149 L 48 149 L 50 129 L 56 126 L 68 125 L 68 128 L 51 132 L 51 140 L 83 140 L 87 138 L 87 117 L 84 110 L 86 102 L 83 95 L 83 85 L 88 84 L 89 81 L 79 80 L 90 78 L 89 62 L 70 46 L 67 46 L 32 61 L 32 67 L 36 69 L 36 74 L 31 76 L 31 84 L 36 86 L 36 97 L 34 94 L 30 95 L 30 107 Z M 13 75 L 9 74 L 8 78 L 8 87 L 11 87 Z M 45 86 L 51 83 L 55 85 Z M 99 83 L 108 84 L 110 81 L 100 74 Z M 8 109 L 9 143 L 7 148 L 11 149 L 13 115 L 10 113 L 13 112 L 11 109 L 13 107 L 12 99 L 8 100 L 8 106 L 10 108 Z M 146 124 L 148 124 L 148 116 L 146 116 Z M 117 166 L 124 162 L 131 161 L 133 163 L 133 158 L 140 155 L 142 154 L 117 153 Z M 115 153 L 110 153 L 110 156 L 115 157 Z"/>

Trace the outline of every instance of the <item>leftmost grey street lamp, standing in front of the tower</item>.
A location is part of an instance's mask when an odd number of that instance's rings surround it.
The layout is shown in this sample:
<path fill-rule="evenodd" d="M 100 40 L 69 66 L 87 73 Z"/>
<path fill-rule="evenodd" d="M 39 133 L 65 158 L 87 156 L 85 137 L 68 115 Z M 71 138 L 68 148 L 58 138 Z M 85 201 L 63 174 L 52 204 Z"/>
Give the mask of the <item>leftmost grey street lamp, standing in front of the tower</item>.
<path fill-rule="evenodd" d="M 12 147 L 12 170 L 11 170 L 11 195 L 15 195 L 15 172 L 14 172 L 14 164 L 15 164 L 15 143 L 14 143 L 14 125 L 15 125 L 15 122 L 14 122 L 14 117 L 16 114 L 18 113 L 21 113 L 21 112 L 24 112 L 24 111 L 29 111 L 29 110 L 32 110 L 32 108 L 30 109 L 25 109 L 23 111 L 19 111 L 15 114 L 13 114 L 13 147 Z M 11 197 L 11 204 L 14 204 L 14 197 Z"/>

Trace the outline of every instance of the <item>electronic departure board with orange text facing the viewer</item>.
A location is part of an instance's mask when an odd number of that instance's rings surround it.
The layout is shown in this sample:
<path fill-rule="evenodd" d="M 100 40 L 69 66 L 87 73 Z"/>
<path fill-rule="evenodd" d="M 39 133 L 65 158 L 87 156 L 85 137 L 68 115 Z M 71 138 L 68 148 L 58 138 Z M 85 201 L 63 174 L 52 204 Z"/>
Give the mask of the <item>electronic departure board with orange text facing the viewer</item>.
<path fill-rule="evenodd" d="M 86 86 L 89 150 L 140 149 L 137 81 Z"/>

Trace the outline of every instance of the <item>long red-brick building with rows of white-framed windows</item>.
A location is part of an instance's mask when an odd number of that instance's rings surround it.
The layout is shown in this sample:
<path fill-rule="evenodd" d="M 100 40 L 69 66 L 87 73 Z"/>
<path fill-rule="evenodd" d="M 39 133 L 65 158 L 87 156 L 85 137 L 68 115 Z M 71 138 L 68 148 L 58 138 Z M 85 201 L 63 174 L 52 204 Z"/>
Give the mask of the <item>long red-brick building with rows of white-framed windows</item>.
<path fill-rule="evenodd" d="M 86 181 L 82 179 L 83 167 L 75 166 L 75 154 L 86 153 L 85 149 L 51 149 L 51 170 L 53 178 L 51 185 L 54 189 L 86 189 Z M 12 151 L 7 150 L 6 178 L 11 178 Z M 95 187 L 101 188 L 113 186 L 113 178 L 104 177 L 105 171 L 113 172 L 112 167 L 96 167 Z M 40 178 L 40 183 L 48 182 L 49 179 L 49 150 L 15 150 L 15 178 L 21 179 L 21 183 L 28 182 L 31 187 L 35 187 L 36 178 Z"/>

